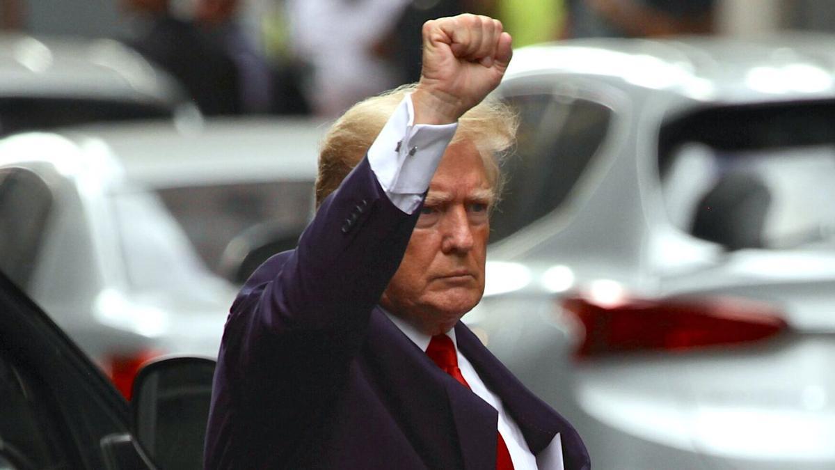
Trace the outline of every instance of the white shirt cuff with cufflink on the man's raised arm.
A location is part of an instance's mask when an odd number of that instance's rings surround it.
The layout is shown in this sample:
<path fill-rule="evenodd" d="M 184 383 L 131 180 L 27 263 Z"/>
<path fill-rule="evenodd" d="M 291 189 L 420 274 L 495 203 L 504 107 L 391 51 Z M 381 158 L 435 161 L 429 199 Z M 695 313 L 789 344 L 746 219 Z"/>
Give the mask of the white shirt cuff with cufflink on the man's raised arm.
<path fill-rule="evenodd" d="M 420 205 L 458 123 L 414 124 L 412 96 L 397 105 L 368 149 L 368 163 L 388 199 L 411 214 Z"/>

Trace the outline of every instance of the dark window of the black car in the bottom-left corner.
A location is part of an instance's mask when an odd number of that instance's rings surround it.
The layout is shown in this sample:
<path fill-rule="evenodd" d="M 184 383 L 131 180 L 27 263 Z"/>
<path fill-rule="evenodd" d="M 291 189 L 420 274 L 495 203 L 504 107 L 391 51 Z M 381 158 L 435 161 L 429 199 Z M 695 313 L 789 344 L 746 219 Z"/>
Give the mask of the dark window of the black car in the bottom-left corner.
<path fill-rule="evenodd" d="M 0 453 L 20 468 L 71 468 L 41 387 L 0 350 Z"/>

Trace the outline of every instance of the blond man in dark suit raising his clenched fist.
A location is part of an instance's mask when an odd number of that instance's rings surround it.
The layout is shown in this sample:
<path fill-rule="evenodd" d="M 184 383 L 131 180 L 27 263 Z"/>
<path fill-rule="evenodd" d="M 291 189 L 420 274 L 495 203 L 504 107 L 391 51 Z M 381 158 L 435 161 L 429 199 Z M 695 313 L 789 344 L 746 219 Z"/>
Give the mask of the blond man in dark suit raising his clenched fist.
<path fill-rule="evenodd" d="M 590 467 L 569 423 L 459 321 L 483 293 L 493 151 L 515 127 L 482 103 L 510 36 L 461 15 L 423 38 L 420 82 L 337 121 L 314 221 L 235 299 L 206 468 Z"/>

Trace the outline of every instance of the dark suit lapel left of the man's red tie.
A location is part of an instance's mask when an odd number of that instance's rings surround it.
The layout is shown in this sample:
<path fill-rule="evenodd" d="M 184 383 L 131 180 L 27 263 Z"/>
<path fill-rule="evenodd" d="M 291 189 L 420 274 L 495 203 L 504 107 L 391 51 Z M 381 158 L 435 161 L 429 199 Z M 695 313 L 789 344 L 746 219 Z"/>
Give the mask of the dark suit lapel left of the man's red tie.
<path fill-rule="evenodd" d="M 438 369 L 379 309 L 367 337 L 361 366 L 427 467 L 495 467 L 493 407 Z"/>

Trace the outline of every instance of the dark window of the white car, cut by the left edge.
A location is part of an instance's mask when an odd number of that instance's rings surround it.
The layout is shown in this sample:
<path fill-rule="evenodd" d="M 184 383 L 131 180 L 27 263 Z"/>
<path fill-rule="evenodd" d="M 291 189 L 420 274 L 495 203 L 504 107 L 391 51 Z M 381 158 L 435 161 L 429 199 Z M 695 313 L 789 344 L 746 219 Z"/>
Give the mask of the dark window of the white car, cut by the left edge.
<path fill-rule="evenodd" d="M 48 186 L 32 171 L 0 170 L 0 270 L 23 289 L 38 258 L 52 202 Z"/>

